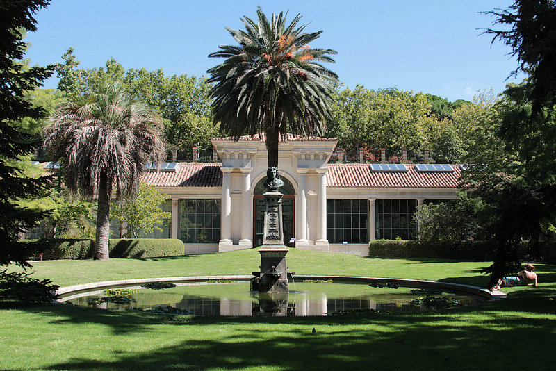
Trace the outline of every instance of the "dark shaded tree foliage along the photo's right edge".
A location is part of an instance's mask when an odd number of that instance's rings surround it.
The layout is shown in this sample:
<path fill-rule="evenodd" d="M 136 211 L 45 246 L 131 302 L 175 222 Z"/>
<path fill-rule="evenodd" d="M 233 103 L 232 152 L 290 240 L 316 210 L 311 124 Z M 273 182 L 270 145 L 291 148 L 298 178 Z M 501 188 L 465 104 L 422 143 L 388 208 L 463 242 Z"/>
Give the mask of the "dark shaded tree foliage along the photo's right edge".
<path fill-rule="evenodd" d="M 510 84 L 496 111 L 491 138 L 498 147 L 475 154 L 464 184 L 490 206 L 497 255 L 486 269 L 491 281 L 519 266 L 521 238 L 554 236 L 556 225 L 556 3 L 515 1 L 508 10 L 490 12 L 509 30 L 487 30 L 513 49 L 514 73 L 527 75 Z M 485 138 L 489 138 L 485 136 Z"/>

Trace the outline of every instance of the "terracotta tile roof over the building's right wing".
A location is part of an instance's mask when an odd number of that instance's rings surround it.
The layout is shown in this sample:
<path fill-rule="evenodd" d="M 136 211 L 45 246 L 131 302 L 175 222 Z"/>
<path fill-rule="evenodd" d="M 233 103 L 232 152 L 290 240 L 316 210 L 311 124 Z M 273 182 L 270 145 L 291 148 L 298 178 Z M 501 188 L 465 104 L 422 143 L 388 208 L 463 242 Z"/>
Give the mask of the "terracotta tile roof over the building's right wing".
<path fill-rule="evenodd" d="M 460 176 L 459 166 L 451 165 L 452 173 L 420 173 L 415 165 L 406 165 L 408 172 L 373 172 L 370 164 L 329 164 L 328 187 L 370 188 L 455 188 Z"/>

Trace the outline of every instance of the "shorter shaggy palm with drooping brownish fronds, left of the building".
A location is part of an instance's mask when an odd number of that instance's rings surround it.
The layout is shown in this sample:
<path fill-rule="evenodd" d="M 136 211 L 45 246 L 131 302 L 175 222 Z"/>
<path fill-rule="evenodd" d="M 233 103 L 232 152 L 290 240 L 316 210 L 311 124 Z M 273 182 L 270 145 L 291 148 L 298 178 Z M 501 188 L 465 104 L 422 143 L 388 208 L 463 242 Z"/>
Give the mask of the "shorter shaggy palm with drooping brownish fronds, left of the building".
<path fill-rule="evenodd" d="M 74 194 L 98 197 L 95 258 L 108 259 L 112 191 L 117 201 L 137 194 L 145 163 L 165 158 L 163 124 L 154 111 L 126 94 L 119 82 L 105 81 L 90 94 L 56 109 L 45 128 L 44 146 L 64 167 Z"/>

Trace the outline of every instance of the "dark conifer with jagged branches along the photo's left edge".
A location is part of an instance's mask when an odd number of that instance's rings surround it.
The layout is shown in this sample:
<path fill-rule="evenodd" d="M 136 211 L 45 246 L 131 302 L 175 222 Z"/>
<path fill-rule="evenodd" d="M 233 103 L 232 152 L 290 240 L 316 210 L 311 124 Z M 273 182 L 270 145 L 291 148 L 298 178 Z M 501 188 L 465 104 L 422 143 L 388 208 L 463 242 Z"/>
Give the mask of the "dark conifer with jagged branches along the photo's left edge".
<path fill-rule="evenodd" d="M 34 226 L 47 213 L 23 208 L 22 199 L 41 195 L 51 179 L 22 176 L 18 160 L 33 153 L 33 135 L 19 123 L 38 120 L 44 110 L 26 99 L 54 71 L 54 66 L 31 67 L 22 62 L 25 31 L 35 31 L 33 15 L 49 4 L 46 0 L 0 3 L 0 265 L 29 267 L 19 233 Z"/>

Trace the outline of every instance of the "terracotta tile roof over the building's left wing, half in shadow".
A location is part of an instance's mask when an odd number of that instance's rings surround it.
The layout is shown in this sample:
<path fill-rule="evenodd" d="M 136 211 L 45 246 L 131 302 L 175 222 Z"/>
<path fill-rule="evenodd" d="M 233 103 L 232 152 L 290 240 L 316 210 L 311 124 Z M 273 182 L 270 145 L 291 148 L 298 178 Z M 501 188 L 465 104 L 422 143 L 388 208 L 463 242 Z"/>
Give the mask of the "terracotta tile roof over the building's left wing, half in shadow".
<path fill-rule="evenodd" d="M 158 187 L 221 187 L 221 163 L 180 163 L 177 172 L 147 172 L 141 181 Z"/>

